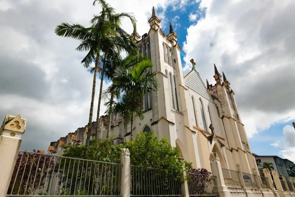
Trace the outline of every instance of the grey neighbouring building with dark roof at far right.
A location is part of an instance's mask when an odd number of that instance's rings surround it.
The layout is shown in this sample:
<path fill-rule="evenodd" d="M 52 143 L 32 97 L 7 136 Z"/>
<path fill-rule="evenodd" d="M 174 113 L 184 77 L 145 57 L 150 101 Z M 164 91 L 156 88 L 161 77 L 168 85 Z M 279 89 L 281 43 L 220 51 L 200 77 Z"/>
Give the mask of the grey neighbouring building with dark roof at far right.
<path fill-rule="evenodd" d="M 289 166 L 290 164 L 294 164 L 294 162 L 287 159 L 282 159 L 278 156 L 259 156 L 256 154 L 253 155 L 255 155 L 255 160 L 256 162 L 259 162 L 260 165 L 263 165 L 263 162 L 273 163 L 274 169 L 270 169 L 270 171 L 277 171 L 280 177 L 285 176 L 286 179 L 295 177 L 295 172 L 291 171 Z M 259 173 L 263 175 L 263 167 L 258 166 L 258 170 Z"/>

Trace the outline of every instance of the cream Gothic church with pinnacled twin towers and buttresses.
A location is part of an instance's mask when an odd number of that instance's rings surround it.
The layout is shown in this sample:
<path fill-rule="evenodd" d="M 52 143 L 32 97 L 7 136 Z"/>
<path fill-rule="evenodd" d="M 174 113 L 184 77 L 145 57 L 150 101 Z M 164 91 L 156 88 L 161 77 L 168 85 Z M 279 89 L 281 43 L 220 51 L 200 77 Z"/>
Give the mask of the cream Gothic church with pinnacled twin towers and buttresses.
<path fill-rule="evenodd" d="M 192 70 L 183 78 L 180 47 L 177 35 L 170 24 L 169 34 L 160 28 L 160 19 L 153 9 L 148 21 L 150 30 L 140 35 L 134 29 L 132 38 L 139 51 L 147 55 L 152 63 L 152 71 L 160 84 L 158 92 L 145 95 L 142 109 L 145 119 L 140 121 L 134 117 L 134 137 L 140 131 L 154 133 L 161 139 L 167 138 L 173 147 L 178 147 L 182 157 L 193 162 L 195 168 L 207 168 L 211 171 L 209 155 L 217 152 L 222 168 L 236 170 L 236 164 L 242 171 L 251 173 L 256 168 L 255 158 L 249 147 L 249 142 L 242 124 L 235 94 L 230 89 L 224 73 L 222 76 L 217 67 L 214 69 L 215 85 L 207 87 L 196 70 L 194 60 Z M 205 66 L 205 65 L 202 65 Z M 206 65 L 207 66 L 207 65 Z M 99 137 L 106 138 L 107 116 L 99 119 Z M 123 119 L 112 115 L 111 132 L 114 134 L 114 144 L 122 142 Z M 79 128 L 56 142 L 51 142 L 48 153 L 63 154 L 64 144 L 69 142 L 84 144 L 86 132 L 91 132 L 92 138 L 96 122 L 92 123 L 91 131 L 86 127 Z M 130 124 L 125 135 L 130 139 Z"/>

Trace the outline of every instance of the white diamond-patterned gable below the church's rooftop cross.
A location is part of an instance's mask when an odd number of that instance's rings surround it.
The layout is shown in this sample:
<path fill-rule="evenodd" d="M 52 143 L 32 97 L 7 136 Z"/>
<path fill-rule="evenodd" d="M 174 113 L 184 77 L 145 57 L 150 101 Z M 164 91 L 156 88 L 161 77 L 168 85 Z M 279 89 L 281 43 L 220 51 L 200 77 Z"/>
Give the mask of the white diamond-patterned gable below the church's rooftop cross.
<path fill-rule="evenodd" d="M 189 88 L 191 88 L 192 90 L 196 91 L 197 93 L 199 93 L 201 96 L 203 96 L 204 98 L 207 98 L 209 101 L 212 102 L 212 98 L 209 95 L 209 93 L 207 92 L 203 81 L 201 80 L 201 78 L 199 77 L 198 73 L 196 70 L 194 70 L 194 72 L 192 72 L 185 80 L 184 80 L 184 84 L 186 86 L 188 86 Z"/>

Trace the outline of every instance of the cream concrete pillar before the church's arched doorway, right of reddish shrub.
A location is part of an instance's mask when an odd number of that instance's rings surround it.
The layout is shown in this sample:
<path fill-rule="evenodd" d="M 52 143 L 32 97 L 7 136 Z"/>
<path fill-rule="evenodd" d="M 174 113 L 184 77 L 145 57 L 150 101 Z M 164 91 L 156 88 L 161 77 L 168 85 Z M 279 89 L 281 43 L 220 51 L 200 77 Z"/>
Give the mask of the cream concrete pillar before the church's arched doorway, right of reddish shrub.
<path fill-rule="evenodd" d="M 219 157 L 216 152 L 210 154 L 210 165 L 212 170 L 212 175 L 216 176 L 217 191 L 219 192 L 219 197 L 230 197 L 230 191 L 227 190 L 225 186 L 224 178 L 222 174 L 221 165 L 219 162 Z"/>

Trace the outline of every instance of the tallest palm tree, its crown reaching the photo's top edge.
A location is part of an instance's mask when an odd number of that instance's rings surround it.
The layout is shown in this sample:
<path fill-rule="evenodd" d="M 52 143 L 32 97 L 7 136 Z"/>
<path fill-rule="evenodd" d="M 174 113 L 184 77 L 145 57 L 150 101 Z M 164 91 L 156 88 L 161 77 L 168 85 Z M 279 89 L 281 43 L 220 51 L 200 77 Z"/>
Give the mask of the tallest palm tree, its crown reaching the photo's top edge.
<path fill-rule="evenodd" d="M 86 146 L 87 150 L 89 148 L 89 140 L 91 135 L 91 123 L 93 115 L 94 106 L 94 95 L 96 86 L 96 74 L 99 65 L 99 59 L 101 52 L 104 52 L 104 58 L 106 57 L 109 48 L 113 50 L 120 51 L 124 48 L 126 51 L 135 52 L 137 51 L 136 45 L 132 42 L 129 35 L 120 27 L 121 19 L 123 17 L 128 17 L 131 19 L 132 23 L 135 23 L 135 18 L 128 13 L 114 14 L 114 9 L 109 6 L 104 0 L 95 0 L 95 3 L 101 4 L 102 11 L 100 15 L 94 15 L 93 19 L 90 21 L 91 26 L 85 28 L 81 24 L 68 24 L 61 23 L 55 28 L 55 33 L 58 36 L 71 37 L 76 40 L 80 40 L 80 45 L 76 48 L 78 51 L 88 51 L 86 57 L 81 61 L 85 68 L 89 68 L 91 63 L 95 60 L 94 67 L 94 77 L 92 84 L 92 96 L 90 104 L 90 113 L 88 121 L 88 130 Z M 104 68 L 101 69 L 101 80 L 104 76 Z M 102 88 L 102 82 L 101 82 Z M 100 93 L 101 95 L 101 93 Z M 100 99 L 99 99 L 100 102 Z M 99 105 L 100 108 L 100 105 Z M 98 109 L 99 111 L 99 109 Z M 98 112 L 99 116 L 99 112 Z"/>

